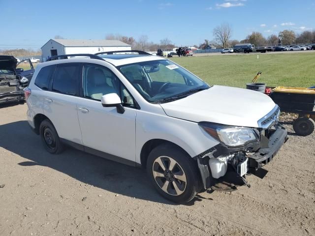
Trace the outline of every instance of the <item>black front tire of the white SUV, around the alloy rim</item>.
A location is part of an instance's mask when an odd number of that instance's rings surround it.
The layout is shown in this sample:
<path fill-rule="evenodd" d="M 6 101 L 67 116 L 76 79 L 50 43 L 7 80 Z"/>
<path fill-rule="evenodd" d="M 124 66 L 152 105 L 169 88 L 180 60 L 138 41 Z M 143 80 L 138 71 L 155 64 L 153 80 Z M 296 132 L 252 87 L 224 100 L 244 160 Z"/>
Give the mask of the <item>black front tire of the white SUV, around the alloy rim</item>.
<path fill-rule="evenodd" d="M 158 161 L 162 162 L 164 171 Z M 168 170 L 174 161 L 176 164 L 172 170 Z M 147 173 L 158 193 L 174 203 L 188 203 L 201 189 L 197 163 L 183 150 L 172 145 L 160 145 L 150 152 Z M 155 177 L 154 175 L 157 173 L 162 176 Z M 182 181 L 177 177 L 185 178 Z M 166 183 L 168 184 L 165 190 L 162 190 Z M 177 190 L 174 184 L 176 184 Z"/>

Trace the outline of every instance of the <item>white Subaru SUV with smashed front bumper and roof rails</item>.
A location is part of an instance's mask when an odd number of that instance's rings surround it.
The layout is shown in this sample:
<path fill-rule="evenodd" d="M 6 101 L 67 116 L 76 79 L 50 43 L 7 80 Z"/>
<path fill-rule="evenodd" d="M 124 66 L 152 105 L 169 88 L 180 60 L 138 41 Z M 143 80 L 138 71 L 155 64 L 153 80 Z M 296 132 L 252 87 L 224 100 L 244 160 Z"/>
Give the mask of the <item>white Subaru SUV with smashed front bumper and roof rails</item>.
<path fill-rule="evenodd" d="M 267 95 L 209 86 L 141 51 L 52 57 L 36 67 L 25 95 L 29 124 L 47 151 L 66 145 L 144 167 L 177 203 L 209 188 L 249 186 L 246 175 L 287 139 Z"/>

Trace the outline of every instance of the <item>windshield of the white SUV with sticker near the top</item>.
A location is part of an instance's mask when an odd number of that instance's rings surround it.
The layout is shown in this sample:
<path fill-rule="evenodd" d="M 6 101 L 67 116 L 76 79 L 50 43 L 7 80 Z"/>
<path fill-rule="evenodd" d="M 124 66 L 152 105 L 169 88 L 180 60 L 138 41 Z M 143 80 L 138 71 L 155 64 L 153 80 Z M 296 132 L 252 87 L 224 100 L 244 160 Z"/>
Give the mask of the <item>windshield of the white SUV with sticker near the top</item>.
<path fill-rule="evenodd" d="M 168 102 L 210 87 L 170 60 L 143 61 L 118 67 L 149 102 Z"/>

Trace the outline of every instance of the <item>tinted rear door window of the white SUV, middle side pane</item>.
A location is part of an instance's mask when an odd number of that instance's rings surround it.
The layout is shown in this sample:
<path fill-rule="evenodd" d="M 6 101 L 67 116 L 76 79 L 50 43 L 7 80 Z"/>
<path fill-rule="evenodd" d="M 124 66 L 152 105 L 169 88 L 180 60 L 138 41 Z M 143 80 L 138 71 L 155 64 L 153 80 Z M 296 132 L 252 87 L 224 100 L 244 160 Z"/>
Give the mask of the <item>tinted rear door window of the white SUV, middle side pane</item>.
<path fill-rule="evenodd" d="M 53 77 L 52 91 L 68 95 L 78 95 L 80 64 L 58 65 Z"/>

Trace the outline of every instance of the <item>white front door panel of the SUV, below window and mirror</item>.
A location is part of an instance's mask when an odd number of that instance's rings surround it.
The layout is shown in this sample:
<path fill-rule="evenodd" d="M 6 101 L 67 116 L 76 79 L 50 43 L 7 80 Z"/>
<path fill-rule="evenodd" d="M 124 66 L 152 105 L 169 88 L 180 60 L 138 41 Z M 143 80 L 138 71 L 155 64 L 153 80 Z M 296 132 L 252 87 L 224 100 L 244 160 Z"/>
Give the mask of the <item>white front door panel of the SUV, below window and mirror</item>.
<path fill-rule="evenodd" d="M 125 107 L 120 114 L 100 101 L 77 99 L 83 145 L 134 162 L 136 109 Z"/>

